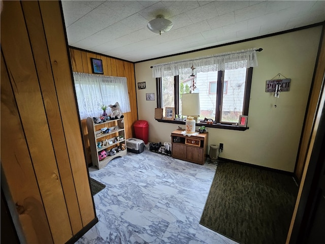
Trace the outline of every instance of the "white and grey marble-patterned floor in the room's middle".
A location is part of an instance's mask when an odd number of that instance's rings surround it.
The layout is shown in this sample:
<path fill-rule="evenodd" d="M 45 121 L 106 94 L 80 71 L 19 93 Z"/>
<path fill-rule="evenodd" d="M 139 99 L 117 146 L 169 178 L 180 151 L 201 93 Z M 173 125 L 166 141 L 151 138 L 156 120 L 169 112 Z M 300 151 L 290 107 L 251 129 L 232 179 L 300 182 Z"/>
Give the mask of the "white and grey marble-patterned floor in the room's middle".
<path fill-rule="evenodd" d="M 149 150 L 90 167 L 106 188 L 94 196 L 99 223 L 76 243 L 236 244 L 199 224 L 215 170 Z"/>

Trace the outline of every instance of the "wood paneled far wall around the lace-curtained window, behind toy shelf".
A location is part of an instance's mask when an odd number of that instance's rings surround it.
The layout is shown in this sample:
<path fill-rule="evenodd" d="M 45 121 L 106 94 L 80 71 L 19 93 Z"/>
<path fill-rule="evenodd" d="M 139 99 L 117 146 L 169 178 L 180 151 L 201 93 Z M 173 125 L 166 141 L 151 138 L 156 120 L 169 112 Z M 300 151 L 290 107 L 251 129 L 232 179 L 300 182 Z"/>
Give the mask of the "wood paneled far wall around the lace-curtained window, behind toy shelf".
<path fill-rule="evenodd" d="M 102 59 L 103 61 L 104 75 L 126 77 L 131 112 L 123 114 L 125 137 L 126 139 L 134 137 L 133 124 L 135 123 L 135 121 L 138 120 L 134 64 L 131 62 L 126 62 L 112 57 L 94 54 L 91 52 L 82 51 L 75 48 L 70 48 L 70 57 L 71 57 L 72 69 L 74 72 L 92 74 L 90 58 L 99 58 Z M 115 102 L 118 101 L 112 101 L 112 104 L 114 104 Z M 91 157 L 90 157 L 90 146 L 89 146 L 86 119 L 82 119 L 81 122 L 82 122 L 82 129 L 83 129 L 84 140 L 85 140 L 86 151 L 87 151 L 87 161 L 88 164 L 90 164 Z"/>

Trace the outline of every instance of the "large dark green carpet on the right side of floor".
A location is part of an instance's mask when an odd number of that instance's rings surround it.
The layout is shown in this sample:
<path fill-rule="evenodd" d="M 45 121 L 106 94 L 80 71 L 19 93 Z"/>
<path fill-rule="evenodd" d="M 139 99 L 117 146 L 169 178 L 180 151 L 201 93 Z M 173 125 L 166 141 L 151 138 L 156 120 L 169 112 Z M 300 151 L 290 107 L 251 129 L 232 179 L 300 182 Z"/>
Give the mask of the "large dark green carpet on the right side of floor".
<path fill-rule="evenodd" d="M 289 175 L 220 163 L 200 224 L 241 244 L 285 243 L 297 193 Z"/>

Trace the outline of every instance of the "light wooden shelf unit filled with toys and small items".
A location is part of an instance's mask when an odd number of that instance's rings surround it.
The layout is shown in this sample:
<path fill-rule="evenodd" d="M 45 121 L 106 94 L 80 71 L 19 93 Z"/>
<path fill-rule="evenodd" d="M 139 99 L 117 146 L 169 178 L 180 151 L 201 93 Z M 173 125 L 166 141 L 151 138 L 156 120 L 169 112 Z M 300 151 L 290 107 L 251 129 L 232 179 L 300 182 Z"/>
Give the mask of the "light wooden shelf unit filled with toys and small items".
<path fill-rule="evenodd" d="M 94 124 L 93 119 L 87 118 L 88 136 L 90 142 L 90 152 L 92 165 L 98 169 L 104 168 L 112 159 L 126 155 L 126 143 L 123 119 L 108 120 L 101 124 Z M 103 128 L 110 129 L 108 133 L 103 132 Z M 121 139 L 122 138 L 122 139 Z M 118 146 L 124 143 L 124 150 L 118 151 Z M 109 156 L 109 151 L 115 149 L 116 153 Z M 102 150 L 107 151 L 107 157 L 100 160 L 99 154 Z"/>

